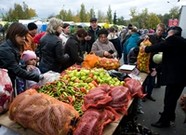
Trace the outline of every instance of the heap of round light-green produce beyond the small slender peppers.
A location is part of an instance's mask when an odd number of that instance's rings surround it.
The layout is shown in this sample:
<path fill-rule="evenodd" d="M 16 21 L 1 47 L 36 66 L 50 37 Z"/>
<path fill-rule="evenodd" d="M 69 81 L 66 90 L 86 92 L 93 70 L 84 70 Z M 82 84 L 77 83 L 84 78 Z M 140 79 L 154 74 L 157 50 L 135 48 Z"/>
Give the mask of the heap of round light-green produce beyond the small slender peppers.
<path fill-rule="evenodd" d="M 61 77 L 61 80 L 68 82 L 68 85 L 85 88 L 87 91 L 99 84 L 109 84 L 110 86 L 123 85 L 123 81 L 119 81 L 116 77 L 112 78 L 103 68 L 68 70 Z"/>

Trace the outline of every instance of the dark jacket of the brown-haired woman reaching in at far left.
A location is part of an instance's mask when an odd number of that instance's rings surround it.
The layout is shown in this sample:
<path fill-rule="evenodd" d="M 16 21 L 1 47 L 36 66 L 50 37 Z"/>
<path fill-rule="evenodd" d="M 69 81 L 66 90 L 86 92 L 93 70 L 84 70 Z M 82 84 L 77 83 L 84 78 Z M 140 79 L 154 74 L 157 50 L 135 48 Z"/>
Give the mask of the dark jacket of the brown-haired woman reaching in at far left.
<path fill-rule="evenodd" d="M 26 71 L 20 65 L 20 50 L 10 40 L 6 40 L 0 45 L 0 68 L 8 70 L 8 75 L 15 85 L 16 76 L 39 82 L 39 74 Z"/>

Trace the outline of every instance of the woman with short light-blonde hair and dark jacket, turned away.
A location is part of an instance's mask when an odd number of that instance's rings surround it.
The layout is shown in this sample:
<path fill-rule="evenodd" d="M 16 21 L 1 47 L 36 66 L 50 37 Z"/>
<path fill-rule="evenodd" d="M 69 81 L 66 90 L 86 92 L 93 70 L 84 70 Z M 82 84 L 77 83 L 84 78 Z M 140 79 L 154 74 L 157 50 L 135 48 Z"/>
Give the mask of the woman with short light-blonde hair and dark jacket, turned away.
<path fill-rule="evenodd" d="M 61 73 L 61 66 L 69 60 L 69 55 L 64 52 L 59 35 L 62 32 L 63 22 L 57 18 L 51 18 L 46 34 L 40 40 L 41 60 L 39 69 L 42 73 L 49 70 Z"/>

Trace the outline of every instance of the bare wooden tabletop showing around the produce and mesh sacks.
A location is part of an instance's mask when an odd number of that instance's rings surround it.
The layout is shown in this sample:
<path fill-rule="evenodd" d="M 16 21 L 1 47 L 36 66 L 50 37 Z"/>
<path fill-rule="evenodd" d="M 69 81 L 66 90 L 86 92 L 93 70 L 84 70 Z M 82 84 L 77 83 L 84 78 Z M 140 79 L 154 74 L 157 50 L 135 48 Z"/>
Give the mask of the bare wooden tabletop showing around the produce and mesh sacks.
<path fill-rule="evenodd" d="M 146 73 L 139 73 L 138 75 L 138 79 L 141 81 L 141 83 L 144 82 L 145 78 L 147 77 Z M 131 104 L 133 103 L 132 99 L 128 105 L 128 108 L 131 106 Z M 123 118 L 124 116 L 121 115 L 120 120 Z M 117 122 L 113 122 L 110 123 L 109 125 L 107 125 L 104 129 L 103 135 L 112 135 L 114 133 L 114 131 L 116 130 L 116 128 L 118 127 L 120 120 Z M 29 122 L 29 121 L 28 121 Z M 16 122 L 13 122 L 9 119 L 8 117 L 8 113 L 5 113 L 3 115 L 0 115 L 0 125 L 7 127 L 10 130 L 13 130 L 17 133 L 19 133 L 20 135 L 39 135 L 38 133 L 35 133 L 34 131 L 30 130 L 30 129 L 25 129 L 23 127 L 21 127 L 19 124 L 17 124 Z"/>

